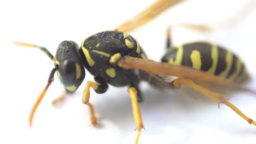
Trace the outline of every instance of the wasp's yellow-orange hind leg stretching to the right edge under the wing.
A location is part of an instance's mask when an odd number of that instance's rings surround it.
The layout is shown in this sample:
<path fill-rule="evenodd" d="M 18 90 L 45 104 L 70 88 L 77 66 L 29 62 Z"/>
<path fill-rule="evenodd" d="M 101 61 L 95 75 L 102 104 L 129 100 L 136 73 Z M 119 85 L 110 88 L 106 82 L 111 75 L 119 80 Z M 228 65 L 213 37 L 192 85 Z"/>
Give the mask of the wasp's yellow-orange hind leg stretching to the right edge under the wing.
<path fill-rule="evenodd" d="M 177 78 L 176 80 L 173 81 L 173 85 L 176 87 L 180 87 L 181 85 L 187 85 L 190 88 L 193 88 L 195 91 L 203 94 L 204 96 L 207 96 L 208 98 L 218 102 L 218 104 L 225 104 L 227 105 L 230 109 L 235 111 L 240 117 L 243 117 L 249 124 L 253 124 L 256 126 L 256 122 L 253 121 L 251 118 L 247 117 L 243 112 L 241 112 L 235 105 L 227 101 L 222 94 L 213 92 L 207 88 L 204 88 L 203 86 L 195 84 L 192 80 L 187 80 L 183 78 Z"/>

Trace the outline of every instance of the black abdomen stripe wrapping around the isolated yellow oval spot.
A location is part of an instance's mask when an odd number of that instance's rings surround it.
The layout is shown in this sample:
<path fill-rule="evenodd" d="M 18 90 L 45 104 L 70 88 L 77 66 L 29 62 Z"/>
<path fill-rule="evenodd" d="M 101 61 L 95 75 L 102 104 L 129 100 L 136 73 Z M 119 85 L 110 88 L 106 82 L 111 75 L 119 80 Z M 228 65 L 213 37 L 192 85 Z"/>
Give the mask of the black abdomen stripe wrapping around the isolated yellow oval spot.
<path fill-rule="evenodd" d="M 184 54 L 182 58 L 182 65 L 193 67 L 192 61 L 190 59 L 190 55 L 193 50 L 197 50 L 200 52 L 202 66 L 200 70 L 208 71 L 213 64 L 213 60 L 211 58 L 211 49 L 212 45 L 204 42 L 197 43 L 189 43 L 183 46 Z"/>

